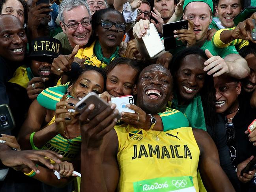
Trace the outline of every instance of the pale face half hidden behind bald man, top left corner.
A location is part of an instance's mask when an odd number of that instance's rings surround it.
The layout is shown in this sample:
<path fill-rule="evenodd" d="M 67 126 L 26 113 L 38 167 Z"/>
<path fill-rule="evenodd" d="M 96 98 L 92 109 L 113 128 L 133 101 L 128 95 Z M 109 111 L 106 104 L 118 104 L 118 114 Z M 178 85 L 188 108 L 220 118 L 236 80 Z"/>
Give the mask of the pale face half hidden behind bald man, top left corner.
<path fill-rule="evenodd" d="M 11 14 L 18 17 L 22 24 L 24 24 L 24 7 L 18 0 L 7 0 L 3 4 L 1 14 Z"/>

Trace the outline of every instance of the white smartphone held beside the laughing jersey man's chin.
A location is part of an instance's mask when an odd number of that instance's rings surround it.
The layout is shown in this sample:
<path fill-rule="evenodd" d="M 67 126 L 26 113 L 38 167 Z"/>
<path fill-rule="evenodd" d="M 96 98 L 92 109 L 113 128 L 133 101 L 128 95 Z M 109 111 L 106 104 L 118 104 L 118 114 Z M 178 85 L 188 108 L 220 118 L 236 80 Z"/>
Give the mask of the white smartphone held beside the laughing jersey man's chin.
<path fill-rule="evenodd" d="M 126 107 L 127 104 L 134 104 L 132 95 L 125 95 L 122 97 L 111 98 L 111 103 L 116 104 L 116 109 L 121 112 L 135 113 L 134 110 L 131 110 Z"/>

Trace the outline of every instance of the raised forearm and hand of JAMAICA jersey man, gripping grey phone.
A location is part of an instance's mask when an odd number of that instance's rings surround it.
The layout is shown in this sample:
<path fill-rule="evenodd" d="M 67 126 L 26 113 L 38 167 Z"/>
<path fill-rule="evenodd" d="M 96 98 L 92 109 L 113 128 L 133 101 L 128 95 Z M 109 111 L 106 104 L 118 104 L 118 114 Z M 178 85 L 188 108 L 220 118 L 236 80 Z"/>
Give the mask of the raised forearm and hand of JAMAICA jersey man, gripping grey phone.
<path fill-rule="evenodd" d="M 114 117 L 118 113 L 118 110 L 114 110 L 115 106 L 110 104 L 89 122 L 87 117 L 94 108 L 93 104 L 80 115 L 82 137 L 80 192 L 116 191 L 119 171 L 116 160 L 118 140 L 113 129 L 117 121 Z"/>

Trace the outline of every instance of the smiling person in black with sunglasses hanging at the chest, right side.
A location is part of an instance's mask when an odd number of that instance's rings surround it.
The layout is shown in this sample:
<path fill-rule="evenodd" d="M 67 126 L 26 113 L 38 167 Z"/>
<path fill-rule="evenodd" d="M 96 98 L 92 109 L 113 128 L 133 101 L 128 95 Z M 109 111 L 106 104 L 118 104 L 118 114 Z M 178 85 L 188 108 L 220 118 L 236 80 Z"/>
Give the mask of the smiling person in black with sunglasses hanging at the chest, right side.
<path fill-rule="evenodd" d="M 214 78 L 216 89 L 215 107 L 225 120 L 230 160 L 241 185 L 243 192 L 255 191 L 255 170 L 241 175 L 241 170 L 256 156 L 256 148 L 248 134 L 247 127 L 256 117 L 256 110 L 250 107 L 250 101 L 241 93 L 241 82 L 232 77 L 222 75 Z M 240 94 L 241 93 L 241 94 Z"/>

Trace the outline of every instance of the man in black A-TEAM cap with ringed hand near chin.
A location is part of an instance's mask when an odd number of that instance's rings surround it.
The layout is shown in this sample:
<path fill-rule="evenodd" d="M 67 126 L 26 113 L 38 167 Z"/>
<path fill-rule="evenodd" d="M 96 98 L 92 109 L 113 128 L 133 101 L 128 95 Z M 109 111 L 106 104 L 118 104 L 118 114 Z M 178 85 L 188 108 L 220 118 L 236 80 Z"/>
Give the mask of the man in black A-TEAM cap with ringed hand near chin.
<path fill-rule="evenodd" d="M 28 56 L 31 59 L 31 67 L 22 65 L 7 83 L 10 107 L 18 129 L 24 121 L 30 103 L 45 88 L 56 85 L 58 80 L 52 76 L 50 68 L 53 59 L 62 51 L 60 41 L 39 37 L 32 40 L 31 50 Z"/>

